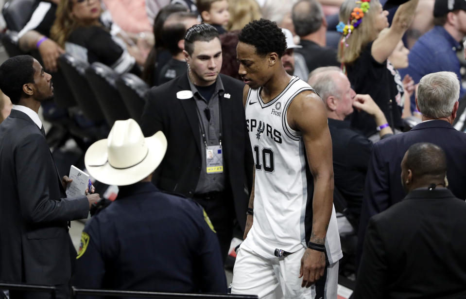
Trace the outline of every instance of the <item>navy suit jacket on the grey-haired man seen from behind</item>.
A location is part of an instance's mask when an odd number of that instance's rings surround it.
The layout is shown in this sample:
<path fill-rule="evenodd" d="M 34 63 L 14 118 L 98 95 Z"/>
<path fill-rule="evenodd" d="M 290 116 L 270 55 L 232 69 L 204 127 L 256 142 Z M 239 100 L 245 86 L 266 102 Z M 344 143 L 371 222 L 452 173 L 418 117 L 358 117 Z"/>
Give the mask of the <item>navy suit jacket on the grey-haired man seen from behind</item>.
<path fill-rule="evenodd" d="M 408 148 L 417 142 L 431 142 L 440 146 L 447 156 L 449 189 L 458 198 L 466 198 L 466 134 L 455 130 L 446 121 L 419 123 L 411 131 L 394 135 L 374 144 L 367 170 L 358 252 L 369 218 L 399 202 L 406 193 L 401 185 L 401 160 Z"/>

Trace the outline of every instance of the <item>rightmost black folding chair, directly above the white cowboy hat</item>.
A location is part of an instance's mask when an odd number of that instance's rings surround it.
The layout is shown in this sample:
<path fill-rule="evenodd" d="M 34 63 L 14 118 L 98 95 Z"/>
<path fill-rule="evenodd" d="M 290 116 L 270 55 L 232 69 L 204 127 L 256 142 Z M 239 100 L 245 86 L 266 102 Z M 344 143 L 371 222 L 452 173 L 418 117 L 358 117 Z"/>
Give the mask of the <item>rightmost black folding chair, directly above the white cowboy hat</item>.
<path fill-rule="evenodd" d="M 118 77 L 116 84 L 129 115 L 139 123 L 146 103 L 144 96 L 149 91 L 149 86 L 132 73 L 122 74 Z"/>

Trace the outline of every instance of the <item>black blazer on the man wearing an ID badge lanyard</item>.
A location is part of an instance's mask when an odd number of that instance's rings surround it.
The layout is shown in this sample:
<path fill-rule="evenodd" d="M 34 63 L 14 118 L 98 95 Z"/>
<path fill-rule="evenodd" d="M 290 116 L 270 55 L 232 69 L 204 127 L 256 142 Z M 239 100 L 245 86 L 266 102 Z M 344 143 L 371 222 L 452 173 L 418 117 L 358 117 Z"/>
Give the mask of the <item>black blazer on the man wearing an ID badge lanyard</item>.
<path fill-rule="evenodd" d="M 248 194 L 252 186 L 253 156 L 246 131 L 242 105 L 244 84 L 220 74 L 224 93 L 219 96 L 222 117 L 222 147 L 224 158 L 225 191 L 231 192 L 236 217 L 244 229 Z M 186 72 L 147 94 L 147 103 L 141 117 L 144 136 L 162 131 L 167 137 L 167 153 L 155 171 L 154 184 L 161 190 L 192 197 L 201 172 L 199 119 L 194 98 L 178 99 L 176 93 L 190 90 Z"/>

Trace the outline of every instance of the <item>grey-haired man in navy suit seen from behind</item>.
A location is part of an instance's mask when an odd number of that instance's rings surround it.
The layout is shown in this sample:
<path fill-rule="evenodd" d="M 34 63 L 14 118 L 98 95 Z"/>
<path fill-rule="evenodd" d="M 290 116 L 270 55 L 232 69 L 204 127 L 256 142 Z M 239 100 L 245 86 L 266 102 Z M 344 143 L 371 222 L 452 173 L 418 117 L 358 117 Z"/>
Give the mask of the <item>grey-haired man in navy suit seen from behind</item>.
<path fill-rule="evenodd" d="M 416 142 L 431 142 L 447 155 L 449 189 L 458 198 L 466 198 L 466 134 L 451 123 L 458 110 L 459 81 L 455 73 L 441 71 L 422 77 L 416 98 L 422 123 L 406 133 L 374 144 L 367 170 L 358 235 L 358 256 L 369 218 L 399 202 L 405 195 L 399 176 L 401 159 Z"/>

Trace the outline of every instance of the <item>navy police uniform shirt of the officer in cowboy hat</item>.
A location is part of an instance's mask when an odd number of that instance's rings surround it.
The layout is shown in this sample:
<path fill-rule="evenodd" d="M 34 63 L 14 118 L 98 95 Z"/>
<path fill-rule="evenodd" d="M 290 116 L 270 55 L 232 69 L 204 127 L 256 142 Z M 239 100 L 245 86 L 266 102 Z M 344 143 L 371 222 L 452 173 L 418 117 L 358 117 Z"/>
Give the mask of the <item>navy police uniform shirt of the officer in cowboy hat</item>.
<path fill-rule="evenodd" d="M 177 293 L 226 293 L 220 246 L 194 201 L 150 182 L 120 187 L 86 225 L 74 285 Z"/>

